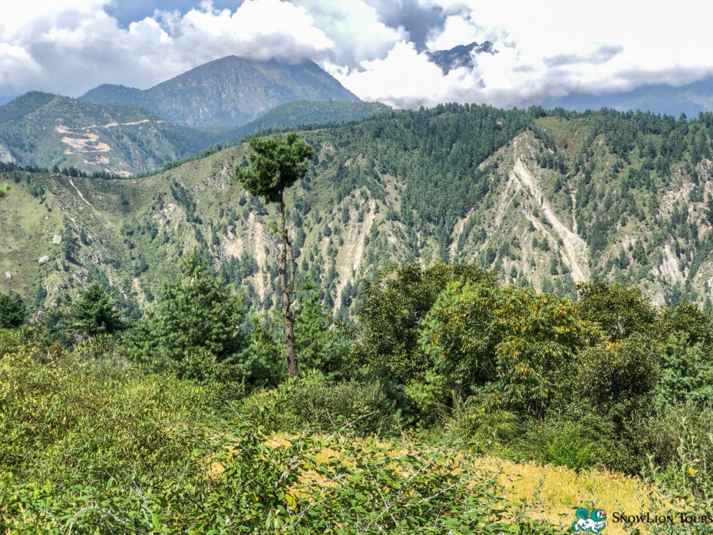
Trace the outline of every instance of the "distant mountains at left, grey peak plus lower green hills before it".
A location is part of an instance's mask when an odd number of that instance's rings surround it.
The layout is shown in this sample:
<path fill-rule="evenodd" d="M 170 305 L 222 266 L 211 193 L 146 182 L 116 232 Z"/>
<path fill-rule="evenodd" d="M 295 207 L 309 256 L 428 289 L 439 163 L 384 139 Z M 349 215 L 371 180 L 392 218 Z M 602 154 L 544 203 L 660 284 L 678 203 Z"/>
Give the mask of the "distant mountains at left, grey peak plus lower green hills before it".
<path fill-rule="evenodd" d="M 39 91 L 15 98 L 0 106 L 0 162 L 128 176 L 258 131 L 390 109 L 359 101 L 312 61 L 229 56 L 145 91 L 104 85 L 79 99 Z"/>

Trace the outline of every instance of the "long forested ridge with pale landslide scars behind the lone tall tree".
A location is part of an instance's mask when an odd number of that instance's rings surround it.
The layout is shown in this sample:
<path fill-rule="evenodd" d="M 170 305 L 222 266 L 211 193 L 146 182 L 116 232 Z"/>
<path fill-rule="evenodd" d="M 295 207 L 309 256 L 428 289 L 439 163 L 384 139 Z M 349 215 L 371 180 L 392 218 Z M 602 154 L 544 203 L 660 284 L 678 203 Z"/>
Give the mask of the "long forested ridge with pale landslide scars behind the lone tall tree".
<path fill-rule="evenodd" d="M 416 261 L 474 263 L 562 295 L 581 280 L 632 282 L 657 303 L 710 307 L 712 133 L 713 114 L 457 105 L 303 132 L 316 157 L 287 200 L 298 272 L 342 313 L 362 277 Z M 246 153 L 127 180 L 6 168 L 7 287 L 44 306 L 103 280 L 150 302 L 198 246 L 252 307 L 274 305 L 275 209 L 235 183 Z"/>

